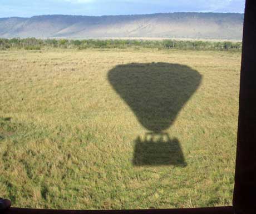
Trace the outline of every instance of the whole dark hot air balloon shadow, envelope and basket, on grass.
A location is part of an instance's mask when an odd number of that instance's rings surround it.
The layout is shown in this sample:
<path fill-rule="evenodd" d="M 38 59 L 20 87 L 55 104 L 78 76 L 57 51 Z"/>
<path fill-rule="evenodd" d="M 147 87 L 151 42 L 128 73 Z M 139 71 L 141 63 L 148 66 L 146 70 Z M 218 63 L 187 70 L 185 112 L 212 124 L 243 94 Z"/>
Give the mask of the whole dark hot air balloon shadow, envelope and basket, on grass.
<path fill-rule="evenodd" d="M 135 140 L 135 166 L 186 166 L 177 138 L 166 130 L 201 82 L 198 71 L 181 64 L 122 64 L 108 73 L 109 82 L 149 133 Z"/>

